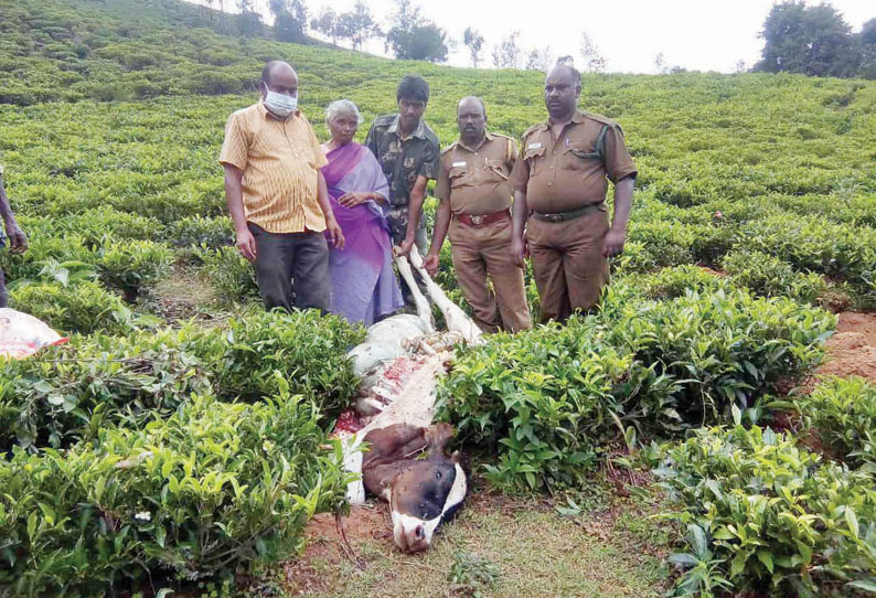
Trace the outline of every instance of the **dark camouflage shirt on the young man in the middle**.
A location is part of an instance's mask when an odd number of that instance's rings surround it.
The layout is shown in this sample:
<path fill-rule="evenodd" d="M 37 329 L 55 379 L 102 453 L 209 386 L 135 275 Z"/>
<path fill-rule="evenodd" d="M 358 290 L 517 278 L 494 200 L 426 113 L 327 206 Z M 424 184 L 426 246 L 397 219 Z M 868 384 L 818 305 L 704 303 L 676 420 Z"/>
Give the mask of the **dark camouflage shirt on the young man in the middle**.
<path fill-rule="evenodd" d="M 378 116 L 368 130 L 365 146 L 381 163 L 389 183 L 389 204 L 407 205 L 417 177 L 435 179 L 438 173 L 440 143 L 420 119 L 409 136 L 402 138 L 398 115 Z"/>

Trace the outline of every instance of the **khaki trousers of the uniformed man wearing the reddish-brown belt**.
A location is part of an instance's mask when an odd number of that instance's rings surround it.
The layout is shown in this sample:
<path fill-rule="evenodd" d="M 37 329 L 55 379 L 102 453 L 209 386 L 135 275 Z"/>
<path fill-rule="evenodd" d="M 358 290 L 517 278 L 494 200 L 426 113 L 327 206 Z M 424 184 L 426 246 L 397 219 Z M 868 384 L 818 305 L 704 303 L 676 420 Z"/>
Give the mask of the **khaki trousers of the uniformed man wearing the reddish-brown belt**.
<path fill-rule="evenodd" d="M 532 328 L 523 269 L 511 255 L 511 218 L 483 226 L 453 218 L 448 236 L 457 280 L 478 327 L 484 332 Z M 487 284 L 488 275 L 492 289 Z"/>

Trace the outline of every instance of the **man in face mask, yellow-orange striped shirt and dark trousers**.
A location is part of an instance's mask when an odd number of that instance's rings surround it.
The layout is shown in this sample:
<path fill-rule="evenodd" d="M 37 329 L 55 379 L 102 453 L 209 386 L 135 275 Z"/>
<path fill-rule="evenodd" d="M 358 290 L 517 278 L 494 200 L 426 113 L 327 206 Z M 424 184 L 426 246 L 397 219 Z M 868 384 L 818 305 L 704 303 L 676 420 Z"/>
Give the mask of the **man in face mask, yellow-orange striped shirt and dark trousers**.
<path fill-rule="evenodd" d="M 298 109 L 298 76 L 285 62 L 265 65 L 261 102 L 225 126 L 220 162 L 237 249 L 256 267 L 266 309 L 329 309 L 328 236 L 343 248 L 310 122 Z M 295 286 L 292 286 L 295 284 Z"/>

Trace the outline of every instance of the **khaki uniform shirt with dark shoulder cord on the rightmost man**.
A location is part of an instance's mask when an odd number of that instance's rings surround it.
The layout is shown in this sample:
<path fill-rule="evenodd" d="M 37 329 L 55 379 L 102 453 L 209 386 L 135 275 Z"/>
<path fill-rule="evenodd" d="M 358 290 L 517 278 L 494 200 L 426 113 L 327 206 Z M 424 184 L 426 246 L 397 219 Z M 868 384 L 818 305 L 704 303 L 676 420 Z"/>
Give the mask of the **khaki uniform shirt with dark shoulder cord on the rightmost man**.
<path fill-rule="evenodd" d="M 605 160 L 597 153 L 600 135 Z M 523 134 L 520 158 L 511 181 L 515 189 L 526 190 L 526 203 L 536 212 L 565 212 L 603 202 L 606 178 L 616 183 L 638 172 L 620 126 L 580 110 L 556 139 L 549 121 L 530 127 Z"/>

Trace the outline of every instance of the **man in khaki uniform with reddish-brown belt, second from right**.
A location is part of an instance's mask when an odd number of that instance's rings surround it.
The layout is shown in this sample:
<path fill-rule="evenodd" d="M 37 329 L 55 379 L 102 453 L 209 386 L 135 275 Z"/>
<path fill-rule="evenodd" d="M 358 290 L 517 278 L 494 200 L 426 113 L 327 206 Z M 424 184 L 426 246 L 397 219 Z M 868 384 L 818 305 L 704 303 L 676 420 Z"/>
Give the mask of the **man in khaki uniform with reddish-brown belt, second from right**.
<path fill-rule="evenodd" d="M 441 203 L 426 269 L 437 271 L 449 228 L 453 268 L 478 325 L 484 332 L 532 328 L 523 270 L 511 253 L 514 140 L 487 130 L 487 111 L 477 97 L 460 100 L 457 124 L 459 139 L 441 152 L 438 163 L 435 196 Z"/>

